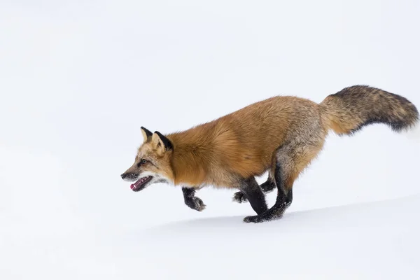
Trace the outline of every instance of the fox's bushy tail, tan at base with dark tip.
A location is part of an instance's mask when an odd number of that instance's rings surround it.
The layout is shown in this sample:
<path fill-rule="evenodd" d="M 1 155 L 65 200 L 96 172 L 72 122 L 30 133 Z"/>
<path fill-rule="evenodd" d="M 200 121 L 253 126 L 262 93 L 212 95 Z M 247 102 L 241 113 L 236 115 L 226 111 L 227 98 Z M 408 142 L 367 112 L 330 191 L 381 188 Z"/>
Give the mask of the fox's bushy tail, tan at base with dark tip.
<path fill-rule="evenodd" d="M 353 134 L 373 123 L 400 132 L 419 121 L 419 111 L 405 97 L 365 85 L 346 87 L 319 106 L 328 128 L 337 134 Z"/>

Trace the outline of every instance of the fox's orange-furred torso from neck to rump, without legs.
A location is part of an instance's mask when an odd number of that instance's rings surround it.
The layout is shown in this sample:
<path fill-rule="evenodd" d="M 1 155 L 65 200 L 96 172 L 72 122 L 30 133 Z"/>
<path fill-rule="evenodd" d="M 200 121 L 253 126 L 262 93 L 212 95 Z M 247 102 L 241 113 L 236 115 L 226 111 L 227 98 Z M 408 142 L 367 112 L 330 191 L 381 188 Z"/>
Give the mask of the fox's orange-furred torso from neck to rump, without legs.
<path fill-rule="evenodd" d="M 259 176 L 272 164 L 290 125 L 297 97 L 273 97 L 210 123 L 167 135 L 174 144 L 174 182 L 190 186 L 236 187 L 237 178 Z"/>

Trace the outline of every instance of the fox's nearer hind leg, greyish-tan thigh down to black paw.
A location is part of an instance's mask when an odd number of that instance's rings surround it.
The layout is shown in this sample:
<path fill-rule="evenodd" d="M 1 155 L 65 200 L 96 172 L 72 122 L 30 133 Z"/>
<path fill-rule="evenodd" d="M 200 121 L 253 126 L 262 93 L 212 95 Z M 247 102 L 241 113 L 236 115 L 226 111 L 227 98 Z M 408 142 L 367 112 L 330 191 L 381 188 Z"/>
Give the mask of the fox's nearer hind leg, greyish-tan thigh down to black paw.
<path fill-rule="evenodd" d="M 293 183 L 302 170 L 309 165 L 323 146 L 319 144 L 295 143 L 284 144 L 276 151 L 274 179 L 277 186 L 277 198 L 274 206 L 258 216 L 244 218 L 245 223 L 262 223 L 283 216 L 293 200 Z"/>

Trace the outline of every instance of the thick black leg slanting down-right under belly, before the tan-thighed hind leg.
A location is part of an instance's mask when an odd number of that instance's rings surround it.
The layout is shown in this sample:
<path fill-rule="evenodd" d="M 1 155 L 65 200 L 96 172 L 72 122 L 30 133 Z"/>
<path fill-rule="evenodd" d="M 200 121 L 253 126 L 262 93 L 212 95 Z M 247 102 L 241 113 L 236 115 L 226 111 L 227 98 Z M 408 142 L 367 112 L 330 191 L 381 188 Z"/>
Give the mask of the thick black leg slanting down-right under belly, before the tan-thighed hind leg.
<path fill-rule="evenodd" d="M 239 189 L 246 196 L 251 207 L 260 215 L 267 211 L 267 203 L 265 202 L 265 195 L 262 193 L 260 186 L 254 177 L 245 179 L 241 182 Z"/>

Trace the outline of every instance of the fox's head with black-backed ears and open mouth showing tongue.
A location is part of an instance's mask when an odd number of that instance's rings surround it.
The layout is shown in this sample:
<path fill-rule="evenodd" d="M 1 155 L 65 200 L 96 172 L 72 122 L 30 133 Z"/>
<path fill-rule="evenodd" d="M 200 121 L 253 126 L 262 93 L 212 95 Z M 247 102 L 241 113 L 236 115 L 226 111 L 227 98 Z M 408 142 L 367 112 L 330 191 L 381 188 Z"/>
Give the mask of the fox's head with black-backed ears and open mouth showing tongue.
<path fill-rule="evenodd" d="M 171 157 L 174 147 L 172 142 L 160 132 L 152 133 L 141 127 L 144 141 L 137 151 L 134 164 L 121 174 L 125 181 L 134 182 L 131 189 L 135 192 L 153 183 L 170 183 L 174 181 Z"/>

